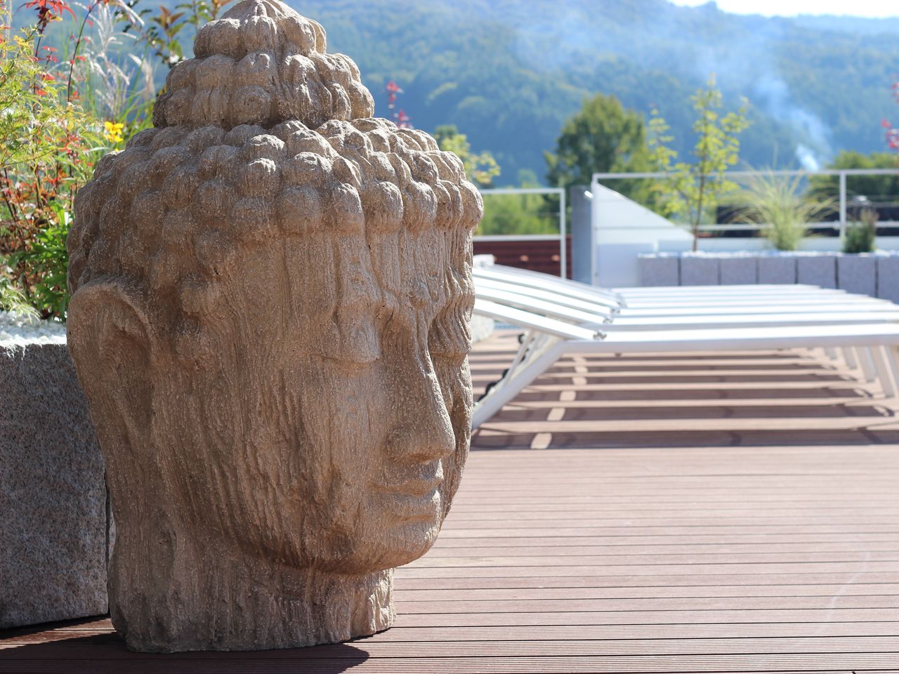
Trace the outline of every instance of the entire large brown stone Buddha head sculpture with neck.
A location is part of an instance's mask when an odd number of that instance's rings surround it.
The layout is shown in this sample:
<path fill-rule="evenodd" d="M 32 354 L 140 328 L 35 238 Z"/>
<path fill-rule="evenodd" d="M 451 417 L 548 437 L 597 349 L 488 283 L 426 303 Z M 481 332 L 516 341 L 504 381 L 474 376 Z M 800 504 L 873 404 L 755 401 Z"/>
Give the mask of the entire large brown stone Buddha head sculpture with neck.
<path fill-rule="evenodd" d="M 372 634 L 467 456 L 482 203 L 277 0 L 237 4 L 194 51 L 68 238 L 113 624 L 155 652 Z"/>

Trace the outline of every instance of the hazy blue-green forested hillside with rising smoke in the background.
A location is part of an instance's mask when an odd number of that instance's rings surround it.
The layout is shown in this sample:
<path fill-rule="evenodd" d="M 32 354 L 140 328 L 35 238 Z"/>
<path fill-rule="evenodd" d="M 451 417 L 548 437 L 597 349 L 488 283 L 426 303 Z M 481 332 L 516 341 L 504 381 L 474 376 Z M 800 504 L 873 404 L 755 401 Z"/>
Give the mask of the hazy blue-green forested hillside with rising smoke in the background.
<path fill-rule="evenodd" d="M 746 96 L 753 165 L 813 166 L 841 149 L 883 149 L 882 119 L 899 71 L 899 22 L 739 16 L 664 0 L 289 0 L 328 32 L 329 50 L 359 64 L 386 115 L 384 85 L 414 126 L 455 124 L 494 153 L 499 184 L 544 180 L 565 119 L 592 93 L 648 113 L 655 104 L 681 149 L 689 97 L 708 77 Z M 894 119 L 895 120 L 895 119 Z"/>

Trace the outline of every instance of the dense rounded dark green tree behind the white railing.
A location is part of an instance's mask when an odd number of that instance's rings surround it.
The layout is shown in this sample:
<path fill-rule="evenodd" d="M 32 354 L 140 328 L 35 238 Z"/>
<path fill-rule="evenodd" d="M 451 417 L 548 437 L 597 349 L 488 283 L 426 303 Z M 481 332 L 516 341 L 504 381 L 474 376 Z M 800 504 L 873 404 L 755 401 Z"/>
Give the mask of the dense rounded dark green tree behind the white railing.
<path fill-rule="evenodd" d="M 643 116 L 626 110 L 615 96 L 598 93 L 584 100 L 556 140 L 556 154 L 543 153 L 547 180 L 556 187 L 589 185 L 593 173 L 628 173 L 652 168 Z M 649 199 L 645 181 L 621 180 L 615 190 L 632 199 Z"/>

